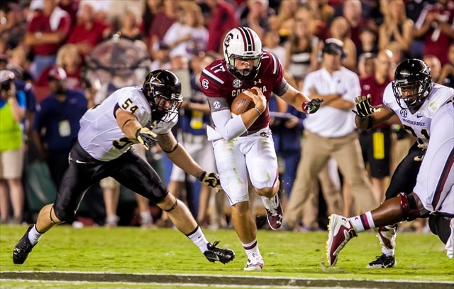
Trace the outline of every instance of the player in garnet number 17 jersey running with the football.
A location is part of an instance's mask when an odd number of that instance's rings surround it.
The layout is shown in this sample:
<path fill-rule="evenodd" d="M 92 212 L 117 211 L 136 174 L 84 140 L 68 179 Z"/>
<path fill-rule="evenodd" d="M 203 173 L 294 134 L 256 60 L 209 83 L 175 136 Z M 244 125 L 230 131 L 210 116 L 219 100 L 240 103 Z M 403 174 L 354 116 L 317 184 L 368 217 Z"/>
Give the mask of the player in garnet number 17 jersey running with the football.
<path fill-rule="evenodd" d="M 227 33 L 223 56 L 208 65 L 200 77 L 215 126 L 209 126 L 207 134 L 213 141 L 221 185 L 232 207 L 233 226 L 248 255 L 245 270 L 260 271 L 263 258 L 249 209 L 248 176 L 262 197 L 270 227 L 279 229 L 282 225 L 277 157 L 268 127 L 267 102 L 274 93 L 299 111 L 311 114 L 319 109 L 321 100 L 311 100 L 287 83 L 279 60 L 262 52 L 260 38 L 250 28 L 233 28 Z M 246 91 L 253 87 L 258 94 Z M 255 107 L 232 116 L 231 104 L 241 92 L 252 97 Z"/>

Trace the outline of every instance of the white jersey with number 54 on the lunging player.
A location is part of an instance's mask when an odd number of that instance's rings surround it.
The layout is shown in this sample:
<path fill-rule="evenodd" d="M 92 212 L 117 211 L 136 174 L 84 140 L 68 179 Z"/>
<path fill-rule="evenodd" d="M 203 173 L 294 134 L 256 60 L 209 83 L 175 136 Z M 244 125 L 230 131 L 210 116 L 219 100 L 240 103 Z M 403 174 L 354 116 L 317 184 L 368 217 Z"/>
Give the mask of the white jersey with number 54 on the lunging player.
<path fill-rule="evenodd" d="M 119 107 L 134 114 L 141 126 L 151 125 L 151 108 L 141 87 L 123 87 L 116 90 L 104 102 L 89 109 L 80 120 L 77 136 L 82 148 L 96 160 L 109 161 L 118 158 L 133 145 L 136 139 L 127 138 L 116 122 L 115 111 Z M 177 124 L 158 122 L 152 131 L 165 134 Z"/>

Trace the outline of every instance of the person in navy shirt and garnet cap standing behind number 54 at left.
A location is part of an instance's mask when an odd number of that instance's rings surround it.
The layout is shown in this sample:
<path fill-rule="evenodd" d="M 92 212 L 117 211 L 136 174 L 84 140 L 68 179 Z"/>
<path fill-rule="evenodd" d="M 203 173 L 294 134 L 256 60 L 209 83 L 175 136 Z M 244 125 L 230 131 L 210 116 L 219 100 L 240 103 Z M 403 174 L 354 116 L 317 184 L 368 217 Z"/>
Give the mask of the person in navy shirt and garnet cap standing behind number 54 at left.
<path fill-rule="evenodd" d="M 79 120 L 87 111 L 87 99 L 82 92 L 67 89 L 65 70 L 52 67 L 49 72 L 51 94 L 40 104 L 33 124 L 33 140 L 39 158 L 48 164 L 55 187 L 66 168 L 72 141 L 79 131 Z"/>

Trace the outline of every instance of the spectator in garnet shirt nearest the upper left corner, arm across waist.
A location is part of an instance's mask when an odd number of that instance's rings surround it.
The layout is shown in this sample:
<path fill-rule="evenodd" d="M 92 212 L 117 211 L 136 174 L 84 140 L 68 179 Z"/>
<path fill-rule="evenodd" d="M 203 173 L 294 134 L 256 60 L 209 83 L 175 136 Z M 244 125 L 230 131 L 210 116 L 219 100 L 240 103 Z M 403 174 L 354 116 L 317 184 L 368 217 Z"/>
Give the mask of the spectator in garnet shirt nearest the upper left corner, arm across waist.
<path fill-rule="evenodd" d="M 25 44 L 33 47 L 31 75 L 38 80 L 41 72 L 55 65 L 57 51 L 71 29 L 70 15 L 57 6 L 56 0 L 35 1 L 35 13 L 28 23 Z"/>

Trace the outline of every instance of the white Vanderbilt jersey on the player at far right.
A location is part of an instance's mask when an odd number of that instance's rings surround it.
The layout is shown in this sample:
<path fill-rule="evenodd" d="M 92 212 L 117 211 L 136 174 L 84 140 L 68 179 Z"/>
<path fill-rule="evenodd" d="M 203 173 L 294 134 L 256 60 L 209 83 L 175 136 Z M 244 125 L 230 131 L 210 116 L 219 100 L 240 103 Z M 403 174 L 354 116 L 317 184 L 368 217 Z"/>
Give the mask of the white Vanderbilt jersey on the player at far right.
<path fill-rule="evenodd" d="M 423 105 L 416 111 L 416 114 L 411 114 L 409 109 L 406 109 L 406 104 L 402 101 L 402 107 L 397 103 L 394 92 L 392 91 L 392 82 L 389 82 L 383 93 L 383 104 L 397 116 L 404 126 L 404 129 L 411 133 L 416 138 L 421 139 L 423 143 L 428 143 L 428 138 L 431 133 L 431 121 L 436 111 L 446 102 L 452 101 L 454 98 L 454 89 L 445 87 L 441 84 L 433 84 L 431 92 Z"/>

